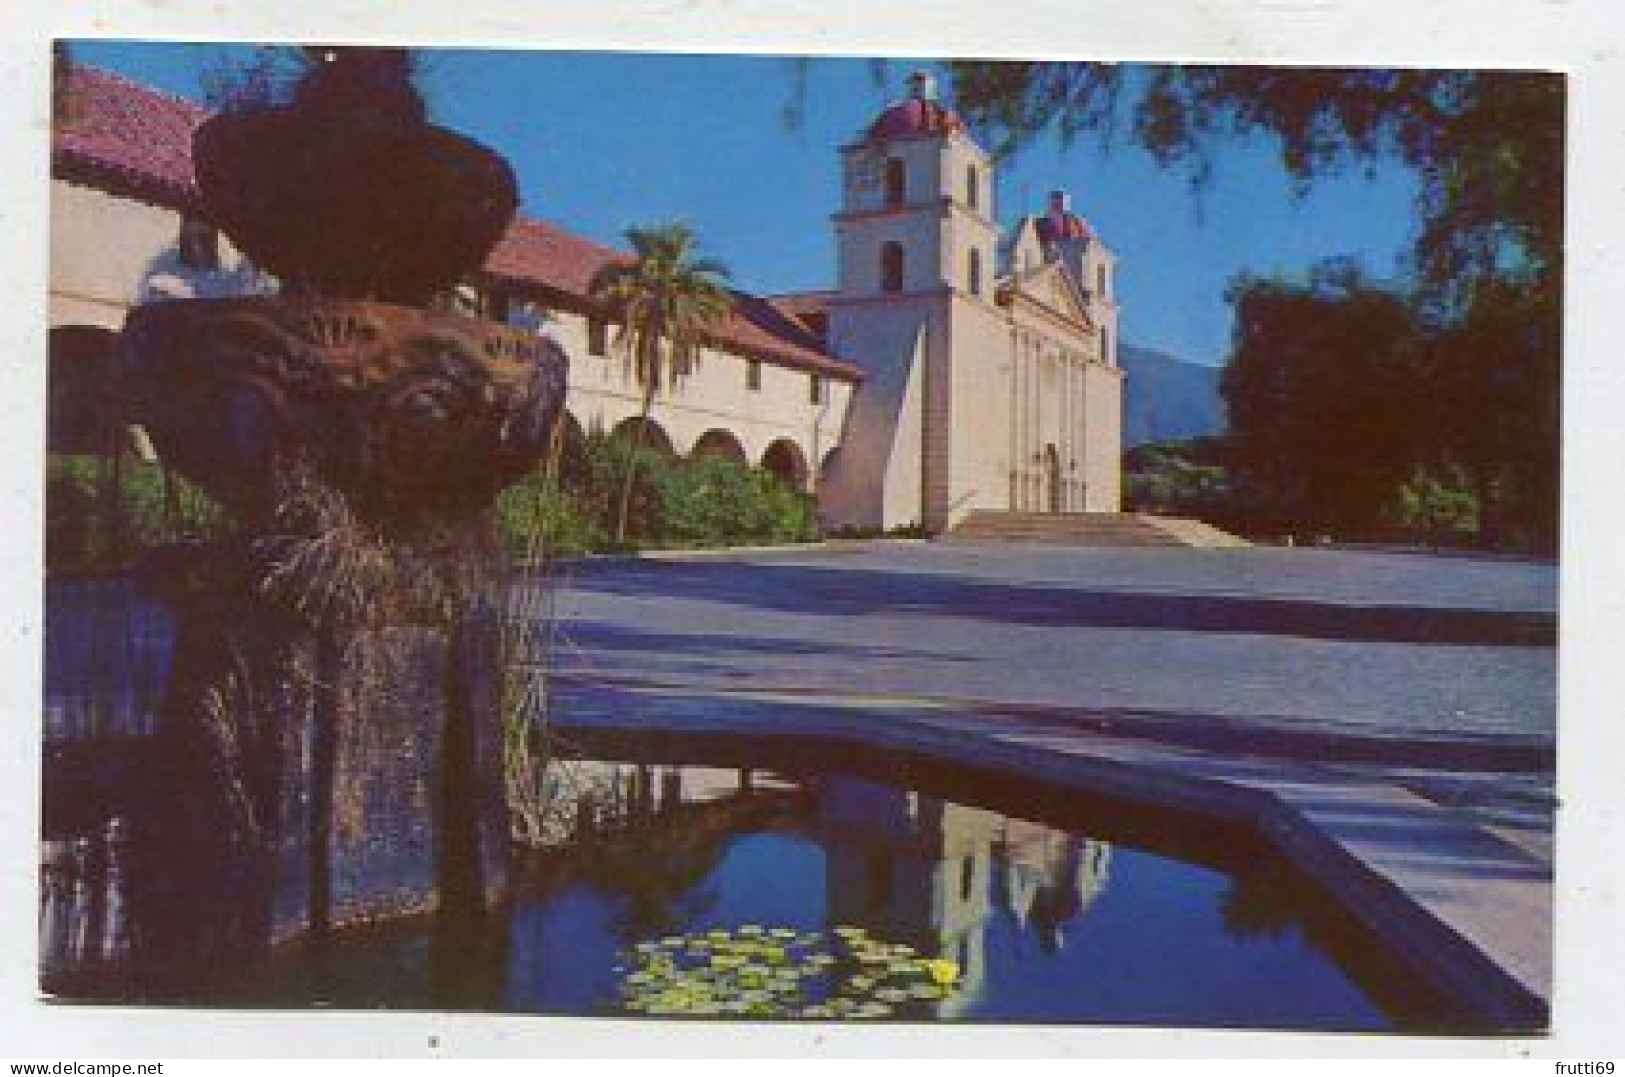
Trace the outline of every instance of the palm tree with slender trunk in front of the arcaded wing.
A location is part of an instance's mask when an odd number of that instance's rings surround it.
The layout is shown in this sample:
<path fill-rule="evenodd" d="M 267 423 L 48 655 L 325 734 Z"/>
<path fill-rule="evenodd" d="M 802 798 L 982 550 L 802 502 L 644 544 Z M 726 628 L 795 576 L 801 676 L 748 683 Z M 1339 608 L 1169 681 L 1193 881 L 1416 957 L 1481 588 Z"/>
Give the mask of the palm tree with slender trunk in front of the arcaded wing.
<path fill-rule="evenodd" d="M 637 421 L 637 442 L 627 458 L 616 518 L 616 543 L 626 541 L 626 518 L 632 504 L 632 478 L 648 430 L 655 393 L 666 382 L 684 377 L 699 362 L 707 331 L 728 317 L 733 292 L 723 284 L 728 268 L 696 253 L 694 229 L 687 224 L 629 227 L 626 239 L 635 258 L 611 262 L 592 279 L 588 292 L 609 307 L 621 323 L 616 348 L 632 361 L 632 374 L 644 388 Z"/>

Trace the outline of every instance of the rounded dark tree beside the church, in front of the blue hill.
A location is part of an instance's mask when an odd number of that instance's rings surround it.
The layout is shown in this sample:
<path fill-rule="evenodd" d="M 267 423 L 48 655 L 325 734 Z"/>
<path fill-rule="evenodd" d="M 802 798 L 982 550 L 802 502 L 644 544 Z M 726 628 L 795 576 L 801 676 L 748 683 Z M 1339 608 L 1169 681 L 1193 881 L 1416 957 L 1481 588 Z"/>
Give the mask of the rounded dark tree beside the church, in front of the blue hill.
<path fill-rule="evenodd" d="M 1237 478 L 1284 531 L 1370 536 L 1428 453 L 1425 336 L 1404 296 L 1347 266 L 1243 281 L 1220 385 Z"/>

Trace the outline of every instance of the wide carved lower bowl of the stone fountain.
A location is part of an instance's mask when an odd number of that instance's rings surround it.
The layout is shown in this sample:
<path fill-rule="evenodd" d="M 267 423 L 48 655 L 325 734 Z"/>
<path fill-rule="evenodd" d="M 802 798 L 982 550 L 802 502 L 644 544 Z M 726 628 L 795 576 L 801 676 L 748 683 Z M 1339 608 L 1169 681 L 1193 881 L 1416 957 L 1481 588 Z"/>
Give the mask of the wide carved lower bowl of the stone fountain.
<path fill-rule="evenodd" d="M 392 534 L 489 505 L 564 404 L 551 340 L 343 299 L 211 299 L 130 314 L 122 369 L 158 452 L 244 520 L 307 466 Z"/>

